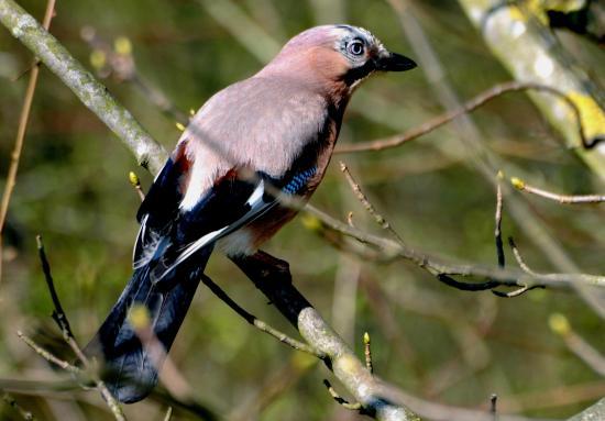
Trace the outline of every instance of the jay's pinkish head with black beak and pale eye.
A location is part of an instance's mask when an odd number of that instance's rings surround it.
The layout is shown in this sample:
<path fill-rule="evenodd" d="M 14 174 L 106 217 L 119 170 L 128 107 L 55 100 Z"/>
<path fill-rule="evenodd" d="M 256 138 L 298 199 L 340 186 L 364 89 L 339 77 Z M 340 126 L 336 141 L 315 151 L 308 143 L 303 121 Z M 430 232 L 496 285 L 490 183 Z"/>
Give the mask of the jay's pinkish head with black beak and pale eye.
<path fill-rule="evenodd" d="M 370 31 L 352 25 L 311 27 L 293 37 L 267 66 L 270 71 L 344 84 L 353 90 L 377 71 L 404 71 L 416 67 L 406 56 L 392 53 Z"/>

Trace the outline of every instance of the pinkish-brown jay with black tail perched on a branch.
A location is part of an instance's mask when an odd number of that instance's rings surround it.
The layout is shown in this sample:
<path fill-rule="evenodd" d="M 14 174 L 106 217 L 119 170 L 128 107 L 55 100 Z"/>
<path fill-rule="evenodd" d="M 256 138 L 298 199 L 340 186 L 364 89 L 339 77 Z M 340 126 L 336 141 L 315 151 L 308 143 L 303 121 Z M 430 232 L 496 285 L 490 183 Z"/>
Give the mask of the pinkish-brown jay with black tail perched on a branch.
<path fill-rule="evenodd" d="M 199 109 L 141 203 L 132 277 L 85 350 L 103 362 L 119 401 L 136 402 L 157 384 L 210 255 L 254 254 L 299 209 L 279 198 L 310 198 L 360 84 L 414 67 L 365 29 L 315 26 Z M 141 306 L 160 355 L 132 325 Z"/>

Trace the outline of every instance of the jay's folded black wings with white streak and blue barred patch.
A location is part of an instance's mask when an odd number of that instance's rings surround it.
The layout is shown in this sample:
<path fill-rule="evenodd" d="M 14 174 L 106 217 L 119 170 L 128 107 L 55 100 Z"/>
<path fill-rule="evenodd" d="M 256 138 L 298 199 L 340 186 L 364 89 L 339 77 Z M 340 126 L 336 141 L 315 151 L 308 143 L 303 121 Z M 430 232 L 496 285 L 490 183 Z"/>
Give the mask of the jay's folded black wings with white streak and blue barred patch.
<path fill-rule="evenodd" d="M 151 265 L 156 282 L 166 279 L 196 252 L 265 214 L 279 202 L 280 193 L 296 195 L 317 170 L 314 166 L 276 179 L 264 173 L 242 177 L 233 168 L 200 195 L 196 206 L 183 209 L 179 203 L 186 187 L 182 185 L 190 167 L 183 159 L 186 158 L 173 154 L 138 213 L 141 229 L 133 265 Z"/>

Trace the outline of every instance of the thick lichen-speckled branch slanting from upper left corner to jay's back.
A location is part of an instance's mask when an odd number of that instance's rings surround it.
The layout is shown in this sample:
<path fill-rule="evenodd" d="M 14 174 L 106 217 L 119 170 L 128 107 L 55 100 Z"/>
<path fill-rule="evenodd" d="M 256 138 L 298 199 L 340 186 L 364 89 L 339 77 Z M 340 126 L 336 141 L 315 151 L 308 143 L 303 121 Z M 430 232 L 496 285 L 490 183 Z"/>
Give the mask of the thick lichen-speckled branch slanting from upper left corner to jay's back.
<path fill-rule="evenodd" d="M 166 160 L 162 145 L 31 14 L 13 0 L 0 0 L 0 22 L 125 143 L 141 166 L 154 174 L 162 168 Z"/>

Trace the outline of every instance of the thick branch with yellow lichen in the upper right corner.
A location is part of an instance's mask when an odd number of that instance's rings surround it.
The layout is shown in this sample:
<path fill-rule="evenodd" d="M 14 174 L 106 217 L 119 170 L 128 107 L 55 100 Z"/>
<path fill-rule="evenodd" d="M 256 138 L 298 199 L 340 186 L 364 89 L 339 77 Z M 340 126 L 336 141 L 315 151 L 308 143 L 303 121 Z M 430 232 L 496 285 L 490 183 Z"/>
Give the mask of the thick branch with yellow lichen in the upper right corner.
<path fill-rule="evenodd" d="M 605 140 L 603 89 L 580 66 L 574 66 L 554 34 L 526 10 L 524 2 L 459 0 L 459 3 L 515 79 L 557 88 L 578 106 L 586 144 L 596 147 L 576 151 L 592 170 L 605 179 L 605 145 L 601 142 Z M 580 144 L 575 117 L 561 100 L 531 92 L 530 97 L 568 145 Z"/>

